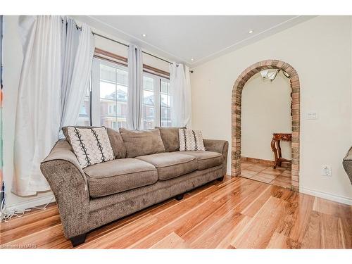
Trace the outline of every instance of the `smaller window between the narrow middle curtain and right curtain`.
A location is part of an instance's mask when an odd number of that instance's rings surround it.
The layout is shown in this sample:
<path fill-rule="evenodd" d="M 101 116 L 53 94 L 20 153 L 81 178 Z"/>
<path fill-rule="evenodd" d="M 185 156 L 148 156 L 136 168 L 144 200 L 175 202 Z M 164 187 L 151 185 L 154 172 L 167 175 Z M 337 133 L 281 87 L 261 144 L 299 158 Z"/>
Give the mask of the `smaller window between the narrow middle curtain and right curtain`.
<path fill-rule="evenodd" d="M 143 76 L 142 129 L 171 127 L 169 80 L 150 73 Z"/>

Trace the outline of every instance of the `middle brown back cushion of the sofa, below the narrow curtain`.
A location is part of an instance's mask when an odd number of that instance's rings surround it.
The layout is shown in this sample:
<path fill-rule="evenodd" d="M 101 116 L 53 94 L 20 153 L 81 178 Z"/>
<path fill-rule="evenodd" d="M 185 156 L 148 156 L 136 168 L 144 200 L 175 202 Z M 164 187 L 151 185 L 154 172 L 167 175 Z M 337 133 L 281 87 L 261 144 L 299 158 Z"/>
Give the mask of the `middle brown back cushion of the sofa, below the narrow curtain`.
<path fill-rule="evenodd" d="M 120 134 L 125 143 L 126 158 L 165 152 L 158 129 L 136 131 L 120 128 Z"/>

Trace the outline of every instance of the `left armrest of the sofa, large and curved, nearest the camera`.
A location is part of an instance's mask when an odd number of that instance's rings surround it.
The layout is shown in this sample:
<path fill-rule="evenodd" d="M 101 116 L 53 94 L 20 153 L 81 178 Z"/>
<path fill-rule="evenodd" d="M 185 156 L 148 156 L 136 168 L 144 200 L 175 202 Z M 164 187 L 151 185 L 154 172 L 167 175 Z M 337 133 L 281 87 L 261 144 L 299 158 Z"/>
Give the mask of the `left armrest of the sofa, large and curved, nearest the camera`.
<path fill-rule="evenodd" d="M 89 191 L 87 178 L 65 139 L 56 142 L 40 169 L 54 192 L 65 237 L 89 230 Z"/>

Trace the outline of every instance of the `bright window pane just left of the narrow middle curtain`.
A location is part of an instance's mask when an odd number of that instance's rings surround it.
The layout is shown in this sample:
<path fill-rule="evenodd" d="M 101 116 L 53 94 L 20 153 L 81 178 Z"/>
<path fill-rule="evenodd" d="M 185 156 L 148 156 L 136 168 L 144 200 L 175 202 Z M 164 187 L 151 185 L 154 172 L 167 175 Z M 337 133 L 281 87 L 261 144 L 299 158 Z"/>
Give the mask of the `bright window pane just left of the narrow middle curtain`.
<path fill-rule="evenodd" d="M 127 67 L 93 59 L 92 125 L 127 127 Z"/>

